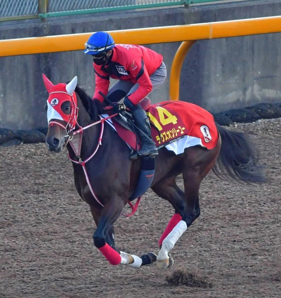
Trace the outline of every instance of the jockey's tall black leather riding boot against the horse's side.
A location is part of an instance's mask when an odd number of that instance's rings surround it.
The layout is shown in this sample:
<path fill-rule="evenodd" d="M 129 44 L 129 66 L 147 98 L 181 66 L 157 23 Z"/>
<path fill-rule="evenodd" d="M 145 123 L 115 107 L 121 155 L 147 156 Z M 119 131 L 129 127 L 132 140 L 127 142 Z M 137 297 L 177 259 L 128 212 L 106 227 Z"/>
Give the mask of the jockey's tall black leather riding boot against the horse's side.
<path fill-rule="evenodd" d="M 149 138 L 151 138 L 150 123 L 146 112 L 138 108 L 132 112 L 135 124 L 139 129 L 141 129 Z M 158 151 L 154 143 L 152 143 L 141 131 L 139 131 L 139 136 L 142 141 L 142 145 L 139 149 L 139 156 L 157 156 Z M 133 156 L 131 156 L 132 159 Z"/>

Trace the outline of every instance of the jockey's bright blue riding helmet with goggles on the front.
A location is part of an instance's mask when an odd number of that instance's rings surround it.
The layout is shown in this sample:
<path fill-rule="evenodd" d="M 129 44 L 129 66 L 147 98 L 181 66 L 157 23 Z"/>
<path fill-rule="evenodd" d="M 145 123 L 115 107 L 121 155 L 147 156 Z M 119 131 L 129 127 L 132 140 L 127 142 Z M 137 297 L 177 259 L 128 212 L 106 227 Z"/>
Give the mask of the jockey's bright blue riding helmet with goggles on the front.
<path fill-rule="evenodd" d="M 85 47 L 85 54 L 96 55 L 114 48 L 115 43 L 107 32 L 99 31 L 91 35 L 87 43 L 85 43 Z"/>

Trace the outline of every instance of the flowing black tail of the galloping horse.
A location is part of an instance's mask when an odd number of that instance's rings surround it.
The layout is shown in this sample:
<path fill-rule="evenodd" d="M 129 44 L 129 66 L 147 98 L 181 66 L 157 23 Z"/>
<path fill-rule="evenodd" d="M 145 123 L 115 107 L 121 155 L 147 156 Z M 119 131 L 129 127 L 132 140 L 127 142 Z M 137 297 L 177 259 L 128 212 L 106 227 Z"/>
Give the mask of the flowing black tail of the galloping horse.
<path fill-rule="evenodd" d="M 245 133 L 230 131 L 216 123 L 222 146 L 214 173 L 222 178 L 233 178 L 252 183 L 263 183 L 263 165 L 258 165 L 259 154 Z"/>

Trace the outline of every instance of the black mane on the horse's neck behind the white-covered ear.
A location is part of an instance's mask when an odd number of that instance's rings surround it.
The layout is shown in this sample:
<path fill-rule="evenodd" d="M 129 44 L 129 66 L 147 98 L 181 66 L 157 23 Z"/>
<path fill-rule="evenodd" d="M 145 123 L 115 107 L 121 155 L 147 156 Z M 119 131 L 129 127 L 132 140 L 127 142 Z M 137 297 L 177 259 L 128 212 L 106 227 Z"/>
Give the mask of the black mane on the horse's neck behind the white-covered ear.
<path fill-rule="evenodd" d="M 102 103 L 100 103 L 98 100 L 92 100 L 84 89 L 76 86 L 75 92 L 79 95 L 82 104 L 90 115 L 92 121 L 96 120 L 97 115 L 103 114 L 105 112 Z"/>

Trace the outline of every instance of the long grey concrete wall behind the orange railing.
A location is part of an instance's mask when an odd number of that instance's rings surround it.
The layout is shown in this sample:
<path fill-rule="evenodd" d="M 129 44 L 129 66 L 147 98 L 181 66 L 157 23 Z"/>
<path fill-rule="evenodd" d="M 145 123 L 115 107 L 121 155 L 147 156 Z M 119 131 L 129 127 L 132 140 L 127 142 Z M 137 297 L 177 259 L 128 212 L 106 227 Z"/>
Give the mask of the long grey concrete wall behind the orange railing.
<path fill-rule="evenodd" d="M 0 39 L 118 30 L 159 25 L 281 15 L 281 1 L 252 0 L 216 5 L 178 7 L 67 16 L 0 23 Z M 181 72 L 180 99 L 209 111 L 281 102 L 281 34 L 198 41 Z M 168 72 L 180 43 L 151 45 L 162 53 Z M 92 59 L 82 51 L 0 57 L 0 127 L 31 129 L 46 126 L 47 98 L 41 74 L 54 84 L 78 76 L 87 93 L 94 91 Z M 153 102 L 168 99 L 169 77 L 150 95 Z"/>

